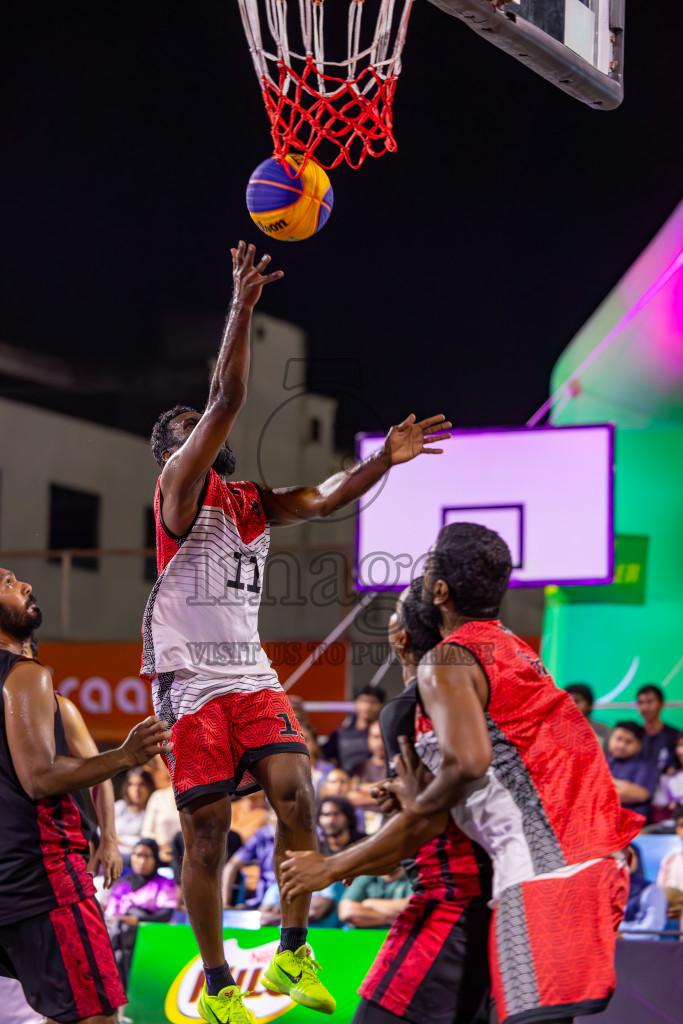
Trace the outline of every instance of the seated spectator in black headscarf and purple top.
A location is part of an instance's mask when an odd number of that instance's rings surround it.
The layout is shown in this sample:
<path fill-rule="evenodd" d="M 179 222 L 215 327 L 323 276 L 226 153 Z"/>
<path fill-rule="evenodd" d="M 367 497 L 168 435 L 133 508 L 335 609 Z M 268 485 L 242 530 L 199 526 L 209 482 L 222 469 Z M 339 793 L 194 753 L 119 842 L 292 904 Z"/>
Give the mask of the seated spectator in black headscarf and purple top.
<path fill-rule="evenodd" d="M 168 922 L 175 909 L 175 883 L 159 874 L 159 847 L 153 839 L 140 840 L 130 855 L 130 863 L 132 871 L 116 883 L 104 910 L 124 988 L 138 924 Z"/>

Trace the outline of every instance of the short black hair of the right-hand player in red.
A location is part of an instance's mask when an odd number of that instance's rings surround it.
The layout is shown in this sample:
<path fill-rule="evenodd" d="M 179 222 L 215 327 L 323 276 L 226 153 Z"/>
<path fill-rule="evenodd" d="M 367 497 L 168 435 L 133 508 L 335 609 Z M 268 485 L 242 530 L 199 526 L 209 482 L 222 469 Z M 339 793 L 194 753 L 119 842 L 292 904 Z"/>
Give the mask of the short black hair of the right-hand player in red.
<path fill-rule="evenodd" d="M 438 535 L 433 577 L 444 580 L 461 615 L 496 618 L 508 589 L 512 558 L 505 541 L 473 522 L 454 522 Z"/>

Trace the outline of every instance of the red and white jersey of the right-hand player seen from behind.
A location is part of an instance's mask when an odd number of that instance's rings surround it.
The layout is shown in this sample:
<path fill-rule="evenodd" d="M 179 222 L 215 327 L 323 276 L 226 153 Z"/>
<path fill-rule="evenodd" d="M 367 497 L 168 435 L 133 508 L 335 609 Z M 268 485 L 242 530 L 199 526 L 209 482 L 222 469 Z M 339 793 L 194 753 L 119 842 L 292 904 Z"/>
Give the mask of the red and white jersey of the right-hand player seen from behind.
<path fill-rule="evenodd" d="M 499 620 L 466 623 L 443 644 L 475 658 L 488 680 L 493 760 L 452 814 L 492 858 L 494 896 L 628 846 L 643 819 L 621 806 L 593 729 L 536 651 Z M 436 771 L 441 754 L 422 711 L 416 750 Z"/>

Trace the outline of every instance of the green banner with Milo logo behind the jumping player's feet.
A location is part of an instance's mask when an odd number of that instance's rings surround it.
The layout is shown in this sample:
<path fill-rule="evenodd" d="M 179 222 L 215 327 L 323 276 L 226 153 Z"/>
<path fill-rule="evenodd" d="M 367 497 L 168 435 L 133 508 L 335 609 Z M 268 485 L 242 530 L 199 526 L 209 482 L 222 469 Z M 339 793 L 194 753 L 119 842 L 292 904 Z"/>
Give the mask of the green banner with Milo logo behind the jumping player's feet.
<path fill-rule="evenodd" d="M 348 1022 L 358 1001 L 356 989 L 386 935 L 384 931 L 311 929 L 309 945 L 324 967 L 323 980 L 337 1000 L 336 1016 Z M 245 1005 L 258 1024 L 279 1021 L 311 1024 L 311 1011 L 275 995 L 261 984 L 278 947 L 276 928 L 257 932 L 225 931 L 225 958 L 246 994 Z M 124 1020 L 132 1024 L 197 1024 L 197 1004 L 204 984 L 202 962 L 187 925 L 140 925 L 128 985 Z"/>

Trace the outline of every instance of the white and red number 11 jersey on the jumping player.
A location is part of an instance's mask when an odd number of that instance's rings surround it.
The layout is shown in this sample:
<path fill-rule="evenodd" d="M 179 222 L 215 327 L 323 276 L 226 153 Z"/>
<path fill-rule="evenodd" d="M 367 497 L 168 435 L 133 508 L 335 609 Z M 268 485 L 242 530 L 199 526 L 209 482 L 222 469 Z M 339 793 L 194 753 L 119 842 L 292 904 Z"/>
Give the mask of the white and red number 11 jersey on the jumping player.
<path fill-rule="evenodd" d="M 261 646 L 258 611 L 270 527 L 255 483 L 214 470 L 184 537 L 164 526 L 155 495 L 159 579 L 142 622 L 141 675 L 169 724 L 222 693 L 280 689 Z"/>

